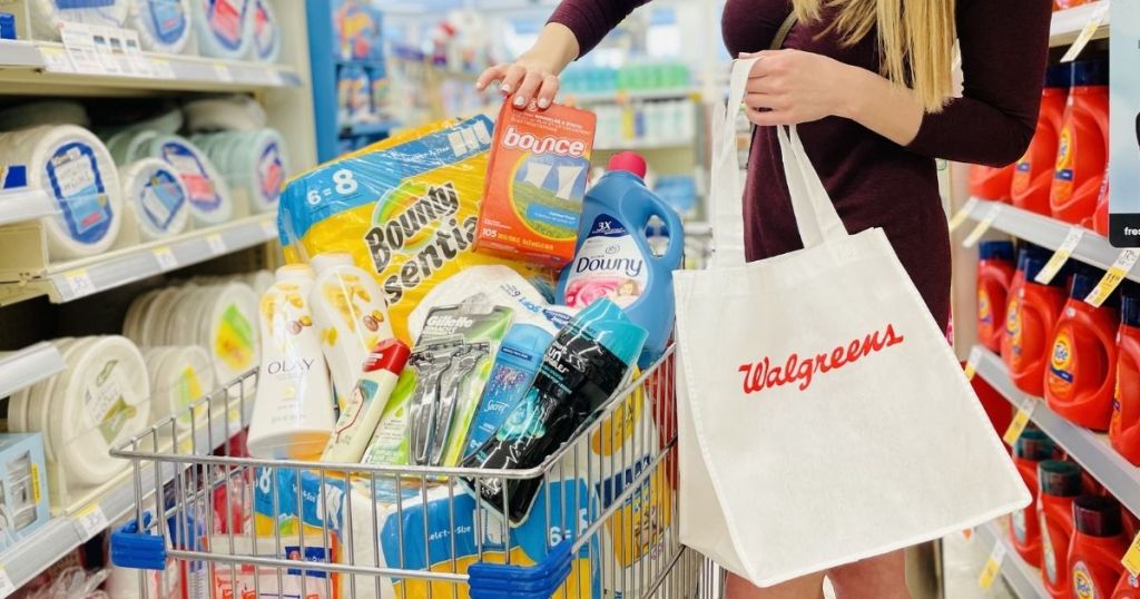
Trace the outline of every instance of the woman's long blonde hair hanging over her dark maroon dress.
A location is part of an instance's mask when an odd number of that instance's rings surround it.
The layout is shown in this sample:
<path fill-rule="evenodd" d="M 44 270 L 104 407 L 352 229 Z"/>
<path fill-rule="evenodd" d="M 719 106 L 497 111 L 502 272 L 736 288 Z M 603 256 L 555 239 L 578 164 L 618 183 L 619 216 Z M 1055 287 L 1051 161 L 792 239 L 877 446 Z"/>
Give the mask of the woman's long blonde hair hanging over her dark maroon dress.
<path fill-rule="evenodd" d="M 823 8 L 838 16 L 828 32 L 847 46 L 877 31 L 880 74 L 914 90 L 927 112 L 938 112 L 953 91 L 954 0 L 792 0 L 796 17 L 817 22 Z"/>

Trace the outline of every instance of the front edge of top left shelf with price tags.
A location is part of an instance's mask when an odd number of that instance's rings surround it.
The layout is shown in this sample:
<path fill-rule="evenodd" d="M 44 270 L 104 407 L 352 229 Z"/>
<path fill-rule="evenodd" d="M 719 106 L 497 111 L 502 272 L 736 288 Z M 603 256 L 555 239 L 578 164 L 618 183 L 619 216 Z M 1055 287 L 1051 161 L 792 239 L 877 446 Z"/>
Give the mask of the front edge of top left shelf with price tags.
<path fill-rule="evenodd" d="M 282 65 L 220 60 L 196 56 L 144 52 L 144 72 L 75 72 L 62 43 L 0 42 L 0 89 L 21 92 L 58 88 L 70 95 L 99 95 L 107 90 L 255 91 L 299 88 L 298 73 Z M 9 84 L 33 86 L 11 88 Z M 39 89 L 35 89 L 39 88 Z"/>

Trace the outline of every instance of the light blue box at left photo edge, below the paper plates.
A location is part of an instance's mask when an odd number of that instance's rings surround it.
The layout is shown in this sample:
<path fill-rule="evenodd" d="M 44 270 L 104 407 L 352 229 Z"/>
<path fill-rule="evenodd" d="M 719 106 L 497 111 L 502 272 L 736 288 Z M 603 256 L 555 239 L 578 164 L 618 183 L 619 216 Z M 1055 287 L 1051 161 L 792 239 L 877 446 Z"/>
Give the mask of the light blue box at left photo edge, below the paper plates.
<path fill-rule="evenodd" d="M 39 432 L 0 434 L 0 550 L 49 518 L 43 438 Z"/>

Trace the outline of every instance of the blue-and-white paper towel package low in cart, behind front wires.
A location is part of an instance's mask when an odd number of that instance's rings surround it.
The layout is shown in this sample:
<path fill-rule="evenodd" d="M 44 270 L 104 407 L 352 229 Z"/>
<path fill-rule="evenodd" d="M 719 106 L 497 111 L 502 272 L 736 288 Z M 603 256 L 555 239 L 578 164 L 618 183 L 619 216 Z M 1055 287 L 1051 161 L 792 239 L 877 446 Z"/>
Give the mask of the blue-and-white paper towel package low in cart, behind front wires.
<path fill-rule="evenodd" d="M 530 566 L 547 555 L 548 544 L 557 544 L 576 531 L 585 531 L 591 516 L 598 509 L 597 496 L 585 480 L 556 480 L 537 499 L 536 513 L 544 517 L 531 518 L 508 529 L 494 511 L 477 510 L 474 499 L 457 487 L 398 487 L 392 478 L 377 477 L 374 494 L 370 479 L 350 484 L 326 476 L 323 484 L 320 476 L 311 471 L 300 475 L 287 469 L 277 470 L 275 475 L 267 472 L 259 473 L 261 483 L 254 496 L 259 534 L 270 534 L 272 523 L 287 523 L 286 529 L 295 531 L 296 523 L 301 521 L 307 527 L 307 544 L 310 539 L 317 544 L 327 526 L 339 540 L 339 560 L 360 566 L 378 564 L 389 568 L 453 572 L 454 560 L 456 570 L 465 573 L 479 560 L 480 548 L 483 562 L 505 562 L 507 535 L 511 564 Z M 275 501 L 279 508 L 277 518 L 272 516 Z M 549 527 L 546 513 L 549 513 Z M 568 597 L 602 597 L 600 551 L 600 543 L 591 542 L 572 560 L 564 585 Z M 348 597 L 351 590 L 348 576 L 341 576 L 341 596 Z M 356 576 L 355 591 L 355 597 L 360 599 L 469 598 L 465 584 L 434 582 L 429 589 L 429 583 L 420 578 L 380 578 L 377 594 L 376 578 L 364 575 Z M 561 597 L 562 592 L 560 589 L 555 597 Z"/>

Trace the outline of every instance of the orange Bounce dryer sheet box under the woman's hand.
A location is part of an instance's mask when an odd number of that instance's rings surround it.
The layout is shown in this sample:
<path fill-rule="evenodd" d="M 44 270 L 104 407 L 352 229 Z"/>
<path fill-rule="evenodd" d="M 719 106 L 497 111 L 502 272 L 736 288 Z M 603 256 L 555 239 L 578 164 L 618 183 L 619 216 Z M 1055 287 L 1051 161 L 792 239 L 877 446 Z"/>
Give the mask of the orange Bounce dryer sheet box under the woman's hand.
<path fill-rule="evenodd" d="M 503 103 L 475 249 L 562 267 L 573 258 L 594 148 L 594 113 Z"/>

